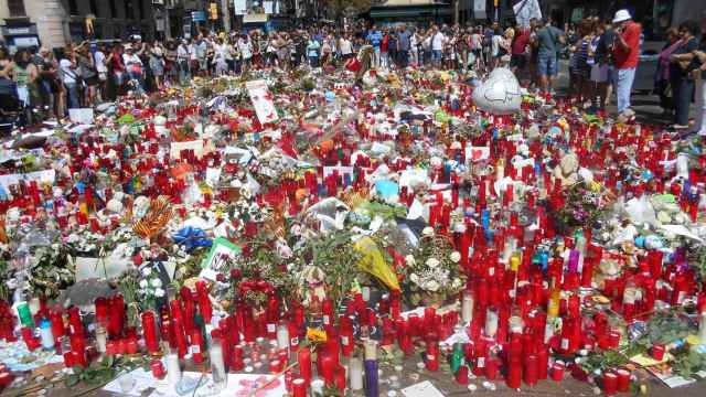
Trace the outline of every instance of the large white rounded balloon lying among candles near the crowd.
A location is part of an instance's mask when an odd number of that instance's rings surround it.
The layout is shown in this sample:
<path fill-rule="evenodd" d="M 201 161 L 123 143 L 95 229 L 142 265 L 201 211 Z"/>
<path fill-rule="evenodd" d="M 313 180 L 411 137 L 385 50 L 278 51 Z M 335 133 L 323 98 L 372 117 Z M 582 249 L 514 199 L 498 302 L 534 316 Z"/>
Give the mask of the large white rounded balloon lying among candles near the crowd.
<path fill-rule="evenodd" d="M 493 115 L 517 112 L 522 105 L 520 82 L 509 68 L 498 67 L 473 89 L 473 101 L 478 108 Z"/>

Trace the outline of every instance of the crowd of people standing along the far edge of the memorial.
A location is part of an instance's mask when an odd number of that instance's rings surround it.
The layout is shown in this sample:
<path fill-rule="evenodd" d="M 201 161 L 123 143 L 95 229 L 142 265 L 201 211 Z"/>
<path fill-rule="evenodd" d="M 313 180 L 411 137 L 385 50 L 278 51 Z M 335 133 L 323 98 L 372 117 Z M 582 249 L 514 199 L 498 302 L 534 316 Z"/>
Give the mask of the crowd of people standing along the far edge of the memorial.
<path fill-rule="evenodd" d="M 706 23 L 687 21 L 668 31 L 660 54 L 655 87 L 674 128 L 688 128 L 688 109 L 696 90 L 704 107 Z M 203 32 L 192 40 L 129 42 L 92 46 L 89 42 L 52 52 L 45 47 L 21 49 L 13 57 L 0 49 L 0 78 L 11 79 L 18 98 L 45 117 L 63 118 L 67 108 L 87 107 L 114 99 L 127 90 L 154 92 L 184 84 L 192 77 L 239 75 L 252 68 L 289 69 L 340 66 L 364 45 L 373 49 L 373 67 L 442 68 L 483 74 L 510 67 L 521 82 L 544 95 L 554 93 L 554 79 L 563 54 L 569 57 L 569 95 L 588 110 L 605 109 L 616 93 L 618 118 L 630 119 L 630 95 L 641 46 L 641 25 L 627 10 L 613 19 L 587 18 L 580 23 L 554 26 L 532 20 L 528 26 L 490 24 L 430 25 L 428 29 L 397 24 L 378 28 L 363 24 L 263 33 Z M 700 43 L 697 41 L 702 36 Z M 696 87 L 698 86 L 698 87 Z M 699 111 L 702 114 L 702 111 Z M 697 117 L 696 130 L 706 135 Z"/>

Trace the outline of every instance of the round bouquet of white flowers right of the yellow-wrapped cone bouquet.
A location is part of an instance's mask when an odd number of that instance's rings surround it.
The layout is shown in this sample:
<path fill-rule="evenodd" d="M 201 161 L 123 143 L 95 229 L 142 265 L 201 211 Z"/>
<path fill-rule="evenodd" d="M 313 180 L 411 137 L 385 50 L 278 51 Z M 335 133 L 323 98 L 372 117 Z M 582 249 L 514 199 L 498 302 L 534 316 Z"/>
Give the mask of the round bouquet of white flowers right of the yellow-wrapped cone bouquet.
<path fill-rule="evenodd" d="M 410 303 L 440 305 L 466 285 L 459 261 L 461 254 L 453 249 L 446 236 L 431 227 L 421 233 L 418 247 L 405 257 L 403 289 Z"/>

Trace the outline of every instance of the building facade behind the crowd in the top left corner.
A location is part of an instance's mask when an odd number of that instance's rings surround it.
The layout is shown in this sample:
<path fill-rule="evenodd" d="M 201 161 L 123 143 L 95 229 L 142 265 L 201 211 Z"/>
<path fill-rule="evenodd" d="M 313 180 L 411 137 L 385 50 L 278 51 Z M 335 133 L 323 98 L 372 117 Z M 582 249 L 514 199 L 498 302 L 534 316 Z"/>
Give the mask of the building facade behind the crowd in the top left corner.
<path fill-rule="evenodd" d="M 6 45 L 51 49 L 84 40 L 157 35 L 152 2 L 161 0 L 4 0 L 0 25 Z"/>

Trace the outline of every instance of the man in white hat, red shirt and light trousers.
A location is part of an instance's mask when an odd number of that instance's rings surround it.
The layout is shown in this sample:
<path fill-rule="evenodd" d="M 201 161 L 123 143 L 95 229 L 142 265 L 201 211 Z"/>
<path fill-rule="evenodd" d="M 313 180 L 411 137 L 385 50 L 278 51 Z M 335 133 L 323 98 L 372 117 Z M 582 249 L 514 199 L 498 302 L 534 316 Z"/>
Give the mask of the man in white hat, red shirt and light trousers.
<path fill-rule="evenodd" d="M 630 92 L 635 79 L 635 68 L 640 56 L 640 35 L 642 26 L 635 23 L 628 10 L 619 10 L 613 18 L 616 25 L 616 44 L 613 58 L 616 60 L 616 94 L 618 96 L 618 117 L 627 121 L 634 116 L 630 109 Z"/>

